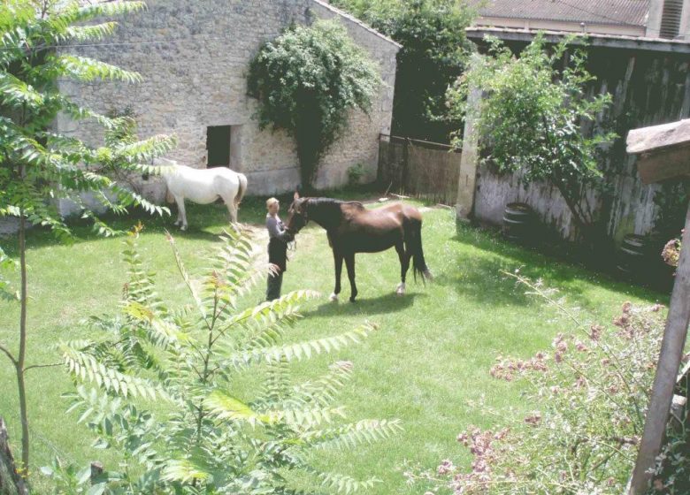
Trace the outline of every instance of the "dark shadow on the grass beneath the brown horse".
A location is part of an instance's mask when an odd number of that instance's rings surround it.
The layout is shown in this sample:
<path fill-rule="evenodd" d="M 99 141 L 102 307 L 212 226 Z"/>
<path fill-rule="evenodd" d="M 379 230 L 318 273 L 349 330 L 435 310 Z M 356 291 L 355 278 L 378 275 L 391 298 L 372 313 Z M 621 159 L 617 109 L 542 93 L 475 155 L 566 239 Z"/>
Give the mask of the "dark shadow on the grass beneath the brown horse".
<path fill-rule="evenodd" d="M 341 298 L 345 297 L 349 298 L 348 292 L 341 293 Z M 348 299 L 340 302 L 325 302 L 311 311 L 305 311 L 304 316 L 309 316 L 310 318 L 331 318 L 333 316 L 395 313 L 396 311 L 410 308 L 418 297 L 427 297 L 427 295 L 426 293 L 407 293 L 400 296 L 396 293 L 387 293 L 373 298 L 357 296 L 357 301 L 354 303 L 349 302 Z"/>

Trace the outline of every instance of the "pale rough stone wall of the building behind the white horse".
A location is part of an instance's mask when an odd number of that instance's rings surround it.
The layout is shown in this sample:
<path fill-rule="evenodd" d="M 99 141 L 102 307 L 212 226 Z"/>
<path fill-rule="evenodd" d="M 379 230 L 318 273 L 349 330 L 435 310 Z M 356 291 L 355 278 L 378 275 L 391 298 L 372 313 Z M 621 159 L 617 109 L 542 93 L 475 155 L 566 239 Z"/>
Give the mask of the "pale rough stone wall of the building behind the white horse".
<path fill-rule="evenodd" d="M 248 194 L 274 194 L 299 183 L 295 142 L 283 132 L 261 131 L 247 95 L 249 61 L 262 43 L 291 23 L 338 19 L 380 68 L 384 84 L 368 115 L 353 110 L 349 128 L 321 162 L 315 186 L 338 187 L 348 169 L 363 164 L 374 179 L 379 134 L 389 133 L 400 45 L 321 0 L 149 0 L 146 11 L 118 19 L 115 36 L 80 55 L 142 74 L 143 82 L 63 83 L 78 103 L 101 112 L 134 112 L 142 137 L 174 133 L 168 156 L 196 168 L 229 165 L 249 179 Z M 62 118 L 58 130 L 96 140 L 99 130 Z M 160 201 L 161 187 L 148 185 Z M 153 194 L 157 193 L 157 194 Z"/>

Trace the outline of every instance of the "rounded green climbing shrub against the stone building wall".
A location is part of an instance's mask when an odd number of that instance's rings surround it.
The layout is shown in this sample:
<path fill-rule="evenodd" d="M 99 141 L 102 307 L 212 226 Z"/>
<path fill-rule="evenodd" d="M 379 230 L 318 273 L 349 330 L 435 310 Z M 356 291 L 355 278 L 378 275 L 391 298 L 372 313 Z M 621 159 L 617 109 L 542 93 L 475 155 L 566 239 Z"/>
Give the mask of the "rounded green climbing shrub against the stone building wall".
<path fill-rule="evenodd" d="M 293 26 L 267 42 L 249 67 L 249 94 L 258 98 L 262 128 L 295 137 L 304 187 L 348 122 L 367 112 L 380 86 L 376 65 L 335 21 Z"/>

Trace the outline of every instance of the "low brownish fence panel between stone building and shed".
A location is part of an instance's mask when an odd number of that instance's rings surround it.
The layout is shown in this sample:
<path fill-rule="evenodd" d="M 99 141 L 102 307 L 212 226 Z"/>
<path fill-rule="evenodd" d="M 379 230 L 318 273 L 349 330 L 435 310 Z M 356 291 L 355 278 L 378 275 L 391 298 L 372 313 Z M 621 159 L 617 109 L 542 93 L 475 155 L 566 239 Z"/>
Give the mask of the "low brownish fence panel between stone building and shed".
<path fill-rule="evenodd" d="M 453 205 L 460 156 L 447 144 L 381 134 L 378 179 L 390 192 Z"/>

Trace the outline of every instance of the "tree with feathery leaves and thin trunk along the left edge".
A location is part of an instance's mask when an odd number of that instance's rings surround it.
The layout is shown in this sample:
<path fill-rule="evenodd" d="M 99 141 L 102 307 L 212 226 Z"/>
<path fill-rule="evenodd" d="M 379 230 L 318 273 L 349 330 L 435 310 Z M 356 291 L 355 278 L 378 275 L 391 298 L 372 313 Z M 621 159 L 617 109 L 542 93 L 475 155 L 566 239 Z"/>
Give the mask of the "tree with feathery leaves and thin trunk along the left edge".
<path fill-rule="evenodd" d="M 77 2 L 58 0 L 6 0 L 0 5 L 0 217 L 19 218 L 19 291 L 9 290 L 0 280 L 4 299 L 19 301 L 19 350 L 0 343 L 0 351 L 12 362 L 19 388 L 22 429 L 21 461 L 29 466 L 29 433 L 25 374 L 42 365 L 27 365 L 27 225 L 44 225 L 68 239 L 69 226 L 60 217 L 56 202 L 71 199 L 90 218 L 96 231 L 114 233 L 80 194 L 91 192 L 107 209 L 121 213 L 130 206 L 142 206 L 162 213 L 144 198 L 108 177 L 108 172 L 124 169 L 149 171 L 142 165 L 152 156 L 173 146 L 173 139 L 155 136 L 146 141 L 117 139 L 128 118 L 107 118 L 81 107 L 59 91 L 59 80 L 120 80 L 136 82 L 134 72 L 60 50 L 70 43 L 98 42 L 111 34 L 116 23 L 87 24 L 95 18 L 140 11 L 141 2 L 96 4 L 80 7 Z M 72 135 L 51 127 L 58 113 L 75 120 L 100 124 L 109 137 L 101 148 L 88 146 Z M 12 263 L 0 252 L 0 262 Z"/>

